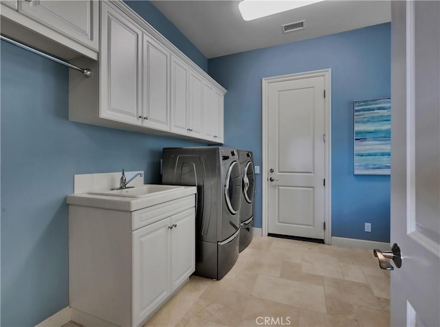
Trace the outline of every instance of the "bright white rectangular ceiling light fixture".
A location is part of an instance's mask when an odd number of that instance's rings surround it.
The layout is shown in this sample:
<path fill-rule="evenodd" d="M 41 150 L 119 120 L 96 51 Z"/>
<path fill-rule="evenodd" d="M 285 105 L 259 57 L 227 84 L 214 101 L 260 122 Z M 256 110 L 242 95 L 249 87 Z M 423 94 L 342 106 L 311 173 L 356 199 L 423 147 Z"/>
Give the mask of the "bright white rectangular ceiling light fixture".
<path fill-rule="evenodd" d="M 239 10 L 245 21 L 252 21 L 321 1 L 324 0 L 243 0 L 239 3 Z"/>

